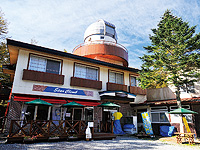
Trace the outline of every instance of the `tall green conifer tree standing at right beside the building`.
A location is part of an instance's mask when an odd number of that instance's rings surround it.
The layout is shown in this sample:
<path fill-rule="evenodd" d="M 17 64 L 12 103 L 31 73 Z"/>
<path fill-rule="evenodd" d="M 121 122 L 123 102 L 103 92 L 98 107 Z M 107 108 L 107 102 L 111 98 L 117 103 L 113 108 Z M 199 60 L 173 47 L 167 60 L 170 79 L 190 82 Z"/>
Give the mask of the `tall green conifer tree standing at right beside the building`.
<path fill-rule="evenodd" d="M 157 29 L 152 29 L 151 46 L 144 47 L 147 54 L 140 72 L 142 88 L 159 88 L 173 84 L 176 87 L 177 104 L 180 104 L 180 87 L 193 84 L 199 78 L 200 33 L 196 26 L 173 16 L 167 10 Z"/>

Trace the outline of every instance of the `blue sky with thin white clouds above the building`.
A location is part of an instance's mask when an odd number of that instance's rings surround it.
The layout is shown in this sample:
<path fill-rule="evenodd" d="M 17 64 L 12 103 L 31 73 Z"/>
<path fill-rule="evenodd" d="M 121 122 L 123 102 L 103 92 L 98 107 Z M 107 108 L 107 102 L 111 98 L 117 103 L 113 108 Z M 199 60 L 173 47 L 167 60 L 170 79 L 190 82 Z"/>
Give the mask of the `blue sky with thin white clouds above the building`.
<path fill-rule="evenodd" d="M 143 46 L 150 45 L 151 29 L 167 9 L 200 32 L 199 0 L 0 0 L 0 7 L 9 22 L 8 37 L 67 52 L 83 43 L 90 24 L 104 19 L 116 26 L 133 68 L 140 68 Z"/>

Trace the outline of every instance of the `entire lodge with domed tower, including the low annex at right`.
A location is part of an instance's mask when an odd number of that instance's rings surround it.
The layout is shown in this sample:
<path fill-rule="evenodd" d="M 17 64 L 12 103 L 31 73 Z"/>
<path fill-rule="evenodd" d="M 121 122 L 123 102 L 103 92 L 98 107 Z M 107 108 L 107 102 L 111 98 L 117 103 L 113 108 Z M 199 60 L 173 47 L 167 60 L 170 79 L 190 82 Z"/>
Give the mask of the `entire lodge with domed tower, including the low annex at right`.
<path fill-rule="evenodd" d="M 143 128 L 142 112 L 149 112 L 154 134 L 159 135 L 163 125 L 180 130 L 178 116 L 168 114 L 176 109 L 173 88 L 142 90 L 138 87 L 139 70 L 129 67 L 128 51 L 117 42 L 115 26 L 107 21 L 91 24 L 85 31 L 84 43 L 76 46 L 72 53 L 11 39 L 7 39 L 7 47 L 10 65 L 4 65 L 3 72 L 10 74 L 13 82 L 6 111 L 5 128 L 8 131 L 12 120 L 53 120 L 57 130 L 59 120 L 80 120 L 93 121 L 93 132 L 112 133 L 112 114 L 115 112 L 121 112 L 123 117 L 137 116 L 139 132 Z M 200 114 L 199 82 L 195 90 L 195 95 L 182 92 L 181 100 L 184 108 Z M 39 105 L 36 115 L 35 105 L 26 104 L 35 99 L 52 106 Z M 70 102 L 84 107 L 62 107 Z M 120 107 L 98 107 L 105 102 Z M 197 135 L 200 135 L 199 116 L 187 115 L 189 126 Z M 70 130 L 65 131 L 69 134 Z"/>

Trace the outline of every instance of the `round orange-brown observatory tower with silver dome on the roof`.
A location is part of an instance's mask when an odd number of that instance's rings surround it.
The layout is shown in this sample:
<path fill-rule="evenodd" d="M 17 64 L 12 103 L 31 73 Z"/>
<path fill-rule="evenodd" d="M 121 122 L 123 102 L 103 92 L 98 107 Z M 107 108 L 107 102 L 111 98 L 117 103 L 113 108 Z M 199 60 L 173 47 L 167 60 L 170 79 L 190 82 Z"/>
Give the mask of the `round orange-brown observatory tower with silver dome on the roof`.
<path fill-rule="evenodd" d="M 84 43 L 76 46 L 73 54 L 128 66 L 128 51 L 117 43 L 115 26 L 102 19 L 86 29 Z"/>

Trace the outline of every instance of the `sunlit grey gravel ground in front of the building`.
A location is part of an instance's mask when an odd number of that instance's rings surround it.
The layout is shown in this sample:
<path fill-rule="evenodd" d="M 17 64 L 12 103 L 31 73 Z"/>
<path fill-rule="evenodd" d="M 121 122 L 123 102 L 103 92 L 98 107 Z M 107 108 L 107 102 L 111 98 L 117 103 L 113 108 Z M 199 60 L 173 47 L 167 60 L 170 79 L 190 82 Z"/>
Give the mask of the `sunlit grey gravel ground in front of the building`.
<path fill-rule="evenodd" d="M 119 136 L 114 140 L 99 141 L 62 141 L 62 142 L 43 142 L 34 144 L 5 144 L 0 141 L 0 150 L 40 150 L 40 149 L 71 149 L 71 150 L 118 150 L 118 149 L 134 149 L 134 150 L 196 150 L 199 146 L 190 146 L 186 144 L 170 144 L 159 140 L 142 140 L 135 137 Z"/>

